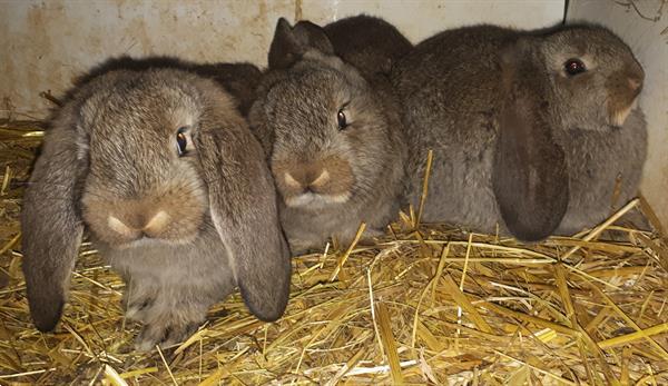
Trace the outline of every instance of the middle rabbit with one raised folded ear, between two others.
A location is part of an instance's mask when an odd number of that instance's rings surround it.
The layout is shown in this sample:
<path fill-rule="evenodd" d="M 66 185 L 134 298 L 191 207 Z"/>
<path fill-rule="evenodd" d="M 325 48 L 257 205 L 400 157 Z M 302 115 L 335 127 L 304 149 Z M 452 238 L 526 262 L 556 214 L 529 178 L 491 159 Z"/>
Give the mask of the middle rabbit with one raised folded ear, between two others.
<path fill-rule="evenodd" d="M 343 61 L 325 30 L 278 20 L 269 69 L 248 115 L 274 175 L 293 254 L 322 248 L 330 237 L 348 244 L 361 222 L 365 238 L 382 234 L 405 189 L 407 152 L 387 75 Z"/>

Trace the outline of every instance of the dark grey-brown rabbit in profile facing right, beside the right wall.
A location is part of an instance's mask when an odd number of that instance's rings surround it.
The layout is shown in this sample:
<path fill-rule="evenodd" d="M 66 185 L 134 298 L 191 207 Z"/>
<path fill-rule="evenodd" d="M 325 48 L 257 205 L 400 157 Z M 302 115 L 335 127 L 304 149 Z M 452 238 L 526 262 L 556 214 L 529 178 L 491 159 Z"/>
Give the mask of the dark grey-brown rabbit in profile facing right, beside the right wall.
<path fill-rule="evenodd" d="M 474 26 L 415 46 L 392 69 L 422 219 L 524 241 L 592 227 L 637 194 L 647 129 L 644 70 L 597 26 Z"/>

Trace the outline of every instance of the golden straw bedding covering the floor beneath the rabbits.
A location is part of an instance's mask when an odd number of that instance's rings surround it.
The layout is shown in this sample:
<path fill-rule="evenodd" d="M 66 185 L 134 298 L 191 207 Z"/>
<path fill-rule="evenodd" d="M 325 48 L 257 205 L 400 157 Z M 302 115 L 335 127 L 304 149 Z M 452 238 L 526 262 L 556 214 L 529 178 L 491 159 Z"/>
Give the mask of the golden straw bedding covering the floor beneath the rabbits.
<path fill-rule="evenodd" d="M 18 224 L 38 130 L 0 126 L 0 384 L 668 384 L 668 245 L 609 224 L 528 246 L 403 216 L 376 245 L 295 258 L 279 321 L 235 295 L 147 354 L 131 349 L 122 283 L 85 244 L 62 321 L 41 334 Z"/>

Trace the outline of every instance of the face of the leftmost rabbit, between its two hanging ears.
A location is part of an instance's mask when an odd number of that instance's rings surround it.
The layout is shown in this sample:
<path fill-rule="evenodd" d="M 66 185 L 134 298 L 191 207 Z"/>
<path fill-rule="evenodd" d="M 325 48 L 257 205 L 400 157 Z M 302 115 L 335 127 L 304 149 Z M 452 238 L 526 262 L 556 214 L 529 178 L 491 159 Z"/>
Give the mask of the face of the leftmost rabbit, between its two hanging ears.
<path fill-rule="evenodd" d="M 197 96 L 184 88 L 130 85 L 100 98 L 81 109 L 90 127 L 85 221 L 114 247 L 190 241 L 207 208 L 191 140 Z"/>

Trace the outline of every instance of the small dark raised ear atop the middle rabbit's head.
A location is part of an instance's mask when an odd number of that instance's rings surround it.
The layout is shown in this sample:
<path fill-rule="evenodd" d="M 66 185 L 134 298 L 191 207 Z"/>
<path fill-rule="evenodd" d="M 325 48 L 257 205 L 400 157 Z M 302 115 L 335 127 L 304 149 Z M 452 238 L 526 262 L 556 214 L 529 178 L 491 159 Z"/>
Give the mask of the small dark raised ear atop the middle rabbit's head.
<path fill-rule="evenodd" d="M 332 42 L 322 27 L 306 20 L 292 27 L 287 20 L 281 18 L 269 47 L 269 69 L 286 69 L 313 49 L 334 55 Z"/>

